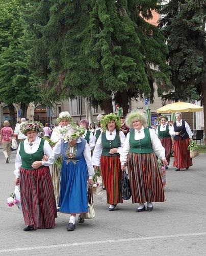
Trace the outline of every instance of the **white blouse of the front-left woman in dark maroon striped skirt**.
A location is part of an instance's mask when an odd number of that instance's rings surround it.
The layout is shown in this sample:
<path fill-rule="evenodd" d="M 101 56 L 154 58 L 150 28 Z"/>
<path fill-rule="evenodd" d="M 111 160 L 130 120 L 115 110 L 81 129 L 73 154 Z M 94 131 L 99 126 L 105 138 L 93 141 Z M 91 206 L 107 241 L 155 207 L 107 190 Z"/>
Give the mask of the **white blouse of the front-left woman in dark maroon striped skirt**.
<path fill-rule="evenodd" d="M 37 152 L 37 150 L 39 148 L 39 145 L 40 145 L 40 142 L 41 142 L 41 138 L 39 138 L 37 136 L 35 141 L 33 142 L 33 145 L 30 146 L 28 139 L 25 139 L 23 141 L 23 146 L 24 146 L 25 153 L 34 154 L 35 152 Z M 20 176 L 20 168 L 21 168 L 21 165 L 22 165 L 21 156 L 19 155 L 20 145 L 18 147 L 18 150 L 17 150 L 17 153 L 16 153 L 16 159 L 15 159 L 14 174 L 16 175 L 16 178 L 19 178 L 19 176 Z M 44 141 L 43 150 L 44 150 L 44 155 L 48 156 L 48 161 L 45 162 L 45 161 L 41 160 L 42 165 L 49 166 L 49 165 L 53 164 L 54 161 L 55 161 L 55 155 L 54 155 L 51 147 L 49 146 L 48 141 L 46 141 L 46 140 Z"/>

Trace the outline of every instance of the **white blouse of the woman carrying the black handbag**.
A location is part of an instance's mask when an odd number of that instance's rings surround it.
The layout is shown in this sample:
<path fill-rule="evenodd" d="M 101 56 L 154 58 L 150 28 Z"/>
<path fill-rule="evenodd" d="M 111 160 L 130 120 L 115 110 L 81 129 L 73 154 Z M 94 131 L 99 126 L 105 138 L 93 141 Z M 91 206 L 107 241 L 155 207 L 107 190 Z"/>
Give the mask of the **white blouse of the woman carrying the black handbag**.
<path fill-rule="evenodd" d="M 140 132 L 140 133 L 139 133 Z M 149 129 L 150 138 L 151 138 L 151 145 L 154 153 L 162 160 L 165 159 L 165 148 L 162 146 L 160 139 L 158 138 L 157 134 L 155 133 L 154 129 Z M 141 140 L 145 137 L 144 134 L 144 127 L 137 131 L 135 129 L 135 140 Z M 121 164 L 125 164 L 127 160 L 127 155 L 130 152 L 130 133 L 126 135 L 126 140 L 120 155 L 120 162 Z"/>

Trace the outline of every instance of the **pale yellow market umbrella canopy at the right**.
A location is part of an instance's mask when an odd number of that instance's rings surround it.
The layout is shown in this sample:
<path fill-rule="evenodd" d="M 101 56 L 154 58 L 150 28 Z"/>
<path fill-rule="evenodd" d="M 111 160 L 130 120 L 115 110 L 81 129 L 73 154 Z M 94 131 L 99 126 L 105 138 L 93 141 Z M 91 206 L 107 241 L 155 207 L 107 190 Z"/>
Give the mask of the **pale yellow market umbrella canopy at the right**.
<path fill-rule="evenodd" d="M 167 104 L 165 106 L 162 106 L 162 108 L 158 109 L 158 113 L 175 113 L 177 111 L 179 112 L 196 112 L 196 111 L 202 111 L 203 107 L 198 106 L 192 103 L 188 102 L 174 102 L 171 104 Z"/>

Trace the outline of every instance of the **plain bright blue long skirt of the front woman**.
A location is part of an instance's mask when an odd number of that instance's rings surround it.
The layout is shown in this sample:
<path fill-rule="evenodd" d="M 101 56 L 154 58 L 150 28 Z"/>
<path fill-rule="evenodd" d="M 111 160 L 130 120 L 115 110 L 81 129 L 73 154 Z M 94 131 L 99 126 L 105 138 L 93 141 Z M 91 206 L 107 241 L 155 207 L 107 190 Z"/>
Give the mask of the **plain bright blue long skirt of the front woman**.
<path fill-rule="evenodd" d="M 81 214 L 88 212 L 87 200 L 87 163 L 85 159 L 62 163 L 60 185 L 60 212 L 65 214 Z"/>

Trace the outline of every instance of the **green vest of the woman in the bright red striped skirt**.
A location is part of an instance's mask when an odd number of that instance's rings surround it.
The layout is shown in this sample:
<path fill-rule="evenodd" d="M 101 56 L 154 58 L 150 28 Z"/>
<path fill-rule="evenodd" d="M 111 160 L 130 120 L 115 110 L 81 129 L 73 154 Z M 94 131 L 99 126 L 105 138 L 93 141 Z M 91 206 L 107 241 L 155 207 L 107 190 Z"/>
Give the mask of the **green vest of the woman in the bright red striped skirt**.
<path fill-rule="evenodd" d="M 119 137 L 119 131 L 116 131 L 116 136 L 114 138 L 114 140 L 107 140 L 106 138 L 106 133 L 102 132 L 101 133 L 101 144 L 102 144 L 102 156 L 109 156 L 109 157 L 114 157 L 114 156 L 119 156 L 119 153 L 115 153 L 115 154 L 110 154 L 110 150 L 111 148 L 118 148 L 121 146 L 121 140 Z"/>

